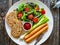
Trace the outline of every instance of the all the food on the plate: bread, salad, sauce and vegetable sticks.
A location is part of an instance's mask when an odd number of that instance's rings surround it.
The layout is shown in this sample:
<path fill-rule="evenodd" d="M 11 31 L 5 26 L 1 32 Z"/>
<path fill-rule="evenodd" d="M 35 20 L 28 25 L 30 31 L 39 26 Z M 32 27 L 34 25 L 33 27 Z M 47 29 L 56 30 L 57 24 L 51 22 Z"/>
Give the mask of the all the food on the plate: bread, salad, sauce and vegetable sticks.
<path fill-rule="evenodd" d="M 6 16 L 11 35 L 29 43 L 48 29 L 46 10 L 33 2 L 21 3 Z M 24 33 L 23 33 L 24 32 Z"/>

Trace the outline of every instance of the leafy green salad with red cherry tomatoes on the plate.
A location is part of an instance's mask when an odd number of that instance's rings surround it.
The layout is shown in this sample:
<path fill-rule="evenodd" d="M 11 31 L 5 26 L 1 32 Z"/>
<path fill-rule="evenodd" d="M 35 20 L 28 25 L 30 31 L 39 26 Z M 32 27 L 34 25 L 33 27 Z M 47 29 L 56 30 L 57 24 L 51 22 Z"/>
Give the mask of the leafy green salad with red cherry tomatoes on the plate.
<path fill-rule="evenodd" d="M 18 19 L 22 21 L 32 21 L 37 23 L 41 15 L 45 15 L 44 8 L 40 8 L 37 4 L 28 2 L 26 4 L 20 4 L 18 6 Z"/>

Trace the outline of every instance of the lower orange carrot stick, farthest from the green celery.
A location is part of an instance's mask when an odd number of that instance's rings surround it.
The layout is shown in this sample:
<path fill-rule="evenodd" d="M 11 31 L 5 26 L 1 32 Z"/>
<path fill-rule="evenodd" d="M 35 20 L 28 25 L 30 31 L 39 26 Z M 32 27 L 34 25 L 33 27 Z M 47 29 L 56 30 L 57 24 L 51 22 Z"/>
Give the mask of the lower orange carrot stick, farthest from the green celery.
<path fill-rule="evenodd" d="M 46 31 L 48 29 L 48 25 L 44 26 L 42 29 L 40 29 L 38 32 L 36 32 L 35 34 L 33 34 L 32 36 L 30 36 L 28 39 L 26 39 L 25 41 L 27 43 L 30 43 L 32 40 L 34 40 L 36 37 L 38 37 L 39 35 L 41 35 L 44 31 Z"/>

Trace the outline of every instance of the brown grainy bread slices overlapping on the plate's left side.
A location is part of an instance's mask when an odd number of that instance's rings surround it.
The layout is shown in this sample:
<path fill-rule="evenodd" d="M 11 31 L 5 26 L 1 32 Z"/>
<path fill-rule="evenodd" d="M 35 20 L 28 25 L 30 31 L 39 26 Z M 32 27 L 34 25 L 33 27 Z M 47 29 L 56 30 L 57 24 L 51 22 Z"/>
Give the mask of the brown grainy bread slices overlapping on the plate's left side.
<path fill-rule="evenodd" d="M 22 33 L 22 22 L 18 21 L 15 11 L 10 12 L 7 17 L 7 23 L 11 28 L 11 35 L 14 38 L 18 38 Z"/>

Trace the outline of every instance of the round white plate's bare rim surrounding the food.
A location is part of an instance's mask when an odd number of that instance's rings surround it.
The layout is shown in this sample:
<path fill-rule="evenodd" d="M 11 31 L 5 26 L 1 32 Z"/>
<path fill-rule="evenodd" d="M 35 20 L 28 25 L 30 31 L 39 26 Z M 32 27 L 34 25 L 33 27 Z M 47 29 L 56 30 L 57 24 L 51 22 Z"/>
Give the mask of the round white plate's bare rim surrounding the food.
<path fill-rule="evenodd" d="M 8 14 L 9 12 L 11 12 L 12 10 L 16 9 L 16 8 L 18 7 L 18 5 L 19 5 L 20 3 L 22 3 L 22 2 L 23 2 L 23 3 L 26 3 L 27 0 L 16 2 L 16 3 L 8 10 L 7 14 Z M 43 35 L 42 39 L 37 43 L 37 45 L 39 45 L 39 44 L 42 44 L 43 42 L 45 42 L 45 41 L 48 39 L 48 37 L 50 36 L 51 32 L 52 32 L 52 29 L 53 29 L 53 16 L 52 16 L 49 8 L 48 8 L 45 4 L 43 4 L 42 2 L 40 2 L 40 1 L 38 1 L 38 0 L 28 0 L 28 2 L 35 2 L 35 3 L 37 3 L 37 4 L 40 6 L 40 8 L 43 7 L 43 8 L 46 10 L 46 16 L 49 18 L 49 22 L 48 22 L 49 28 L 48 28 L 48 31 Z M 34 45 L 34 43 L 36 42 L 36 40 L 34 40 L 33 42 L 27 44 L 27 43 L 25 43 L 24 41 L 21 41 L 20 39 L 15 39 L 15 38 L 13 38 L 13 37 L 11 36 L 11 34 L 10 34 L 10 28 L 9 28 L 7 22 L 6 22 L 6 19 L 5 19 L 5 27 L 6 27 L 6 31 L 7 31 L 7 34 L 9 35 L 9 37 L 10 37 L 15 43 L 17 43 L 17 44 L 19 44 L 19 45 Z"/>

